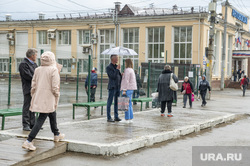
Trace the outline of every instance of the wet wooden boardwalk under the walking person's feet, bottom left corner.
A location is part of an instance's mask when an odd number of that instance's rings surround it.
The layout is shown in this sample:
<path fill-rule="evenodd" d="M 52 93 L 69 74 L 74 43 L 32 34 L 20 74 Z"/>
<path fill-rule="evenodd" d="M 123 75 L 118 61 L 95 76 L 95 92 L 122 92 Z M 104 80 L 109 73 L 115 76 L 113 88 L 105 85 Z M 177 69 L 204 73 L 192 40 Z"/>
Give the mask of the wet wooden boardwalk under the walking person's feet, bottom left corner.
<path fill-rule="evenodd" d="M 28 165 L 49 157 L 53 157 L 67 150 L 66 142 L 34 140 L 36 151 L 22 148 L 25 138 L 11 138 L 0 142 L 0 165 Z"/>

